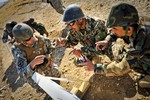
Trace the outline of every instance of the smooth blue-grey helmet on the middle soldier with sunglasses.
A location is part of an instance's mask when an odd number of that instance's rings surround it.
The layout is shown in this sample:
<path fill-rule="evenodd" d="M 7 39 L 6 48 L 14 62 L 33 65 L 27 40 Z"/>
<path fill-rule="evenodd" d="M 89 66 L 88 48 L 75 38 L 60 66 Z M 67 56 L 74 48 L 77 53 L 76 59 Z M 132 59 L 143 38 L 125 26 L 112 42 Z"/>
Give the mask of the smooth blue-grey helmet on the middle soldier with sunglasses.
<path fill-rule="evenodd" d="M 83 18 L 84 14 L 79 5 L 69 5 L 63 14 L 63 22 L 71 22 L 80 18 Z"/>

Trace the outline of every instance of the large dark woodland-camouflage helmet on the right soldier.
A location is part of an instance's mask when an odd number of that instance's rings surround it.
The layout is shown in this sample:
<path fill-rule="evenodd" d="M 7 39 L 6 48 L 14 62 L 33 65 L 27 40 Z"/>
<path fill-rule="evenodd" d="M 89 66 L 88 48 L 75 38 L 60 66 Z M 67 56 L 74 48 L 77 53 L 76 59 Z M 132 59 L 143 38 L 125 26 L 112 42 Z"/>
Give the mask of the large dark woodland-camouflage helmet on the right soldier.
<path fill-rule="evenodd" d="M 138 23 L 138 21 L 139 16 L 136 8 L 132 5 L 121 3 L 112 7 L 106 26 L 108 28 L 114 26 L 129 26 Z"/>

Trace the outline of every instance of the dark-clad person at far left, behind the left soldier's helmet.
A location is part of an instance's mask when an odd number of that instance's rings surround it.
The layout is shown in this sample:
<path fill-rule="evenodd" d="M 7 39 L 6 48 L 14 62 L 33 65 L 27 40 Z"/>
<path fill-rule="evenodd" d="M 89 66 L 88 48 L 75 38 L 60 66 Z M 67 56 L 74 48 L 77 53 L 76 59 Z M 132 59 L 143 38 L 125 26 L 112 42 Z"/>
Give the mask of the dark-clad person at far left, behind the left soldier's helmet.
<path fill-rule="evenodd" d="M 11 43 L 13 44 L 15 42 L 15 39 L 12 34 L 13 27 L 17 24 L 15 21 L 7 22 L 5 25 L 5 29 L 2 36 L 3 43 Z M 9 39 L 10 37 L 10 39 Z"/>

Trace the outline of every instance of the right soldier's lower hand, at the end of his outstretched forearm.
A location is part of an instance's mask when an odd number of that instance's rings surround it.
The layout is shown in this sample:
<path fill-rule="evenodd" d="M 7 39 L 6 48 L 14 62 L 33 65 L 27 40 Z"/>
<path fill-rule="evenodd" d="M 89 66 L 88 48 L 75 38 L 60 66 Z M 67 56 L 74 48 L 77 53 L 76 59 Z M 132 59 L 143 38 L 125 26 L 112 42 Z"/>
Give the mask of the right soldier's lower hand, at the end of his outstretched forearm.
<path fill-rule="evenodd" d="M 87 71 L 94 71 L 94 64 L 89 60 L 86 59 L 86 62 L 83 62 L 82 65 Z"/>

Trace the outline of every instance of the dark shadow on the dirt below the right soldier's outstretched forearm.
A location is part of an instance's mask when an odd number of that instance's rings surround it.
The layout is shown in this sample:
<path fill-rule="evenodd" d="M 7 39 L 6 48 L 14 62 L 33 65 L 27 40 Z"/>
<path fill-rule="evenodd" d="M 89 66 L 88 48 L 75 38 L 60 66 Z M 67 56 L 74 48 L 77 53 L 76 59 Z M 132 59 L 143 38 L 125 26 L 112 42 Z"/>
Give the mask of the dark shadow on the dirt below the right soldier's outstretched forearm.
<path fill-rule="evenodd" d="M 94 75 L 83 100 L 124 100 L 136 95 L 136 86 L 129 75 L 105 77 Z M 94 91 L 93 91 L 94 90 Z M 101 96 L 100 96 L 101 95 Z"/>

